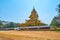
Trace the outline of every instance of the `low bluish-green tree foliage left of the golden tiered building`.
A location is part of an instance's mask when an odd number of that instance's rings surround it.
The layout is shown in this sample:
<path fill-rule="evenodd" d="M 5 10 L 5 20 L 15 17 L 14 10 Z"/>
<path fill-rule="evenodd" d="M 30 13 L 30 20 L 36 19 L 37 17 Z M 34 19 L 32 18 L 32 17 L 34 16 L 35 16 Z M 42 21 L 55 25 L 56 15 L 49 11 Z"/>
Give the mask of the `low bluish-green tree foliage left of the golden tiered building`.
<path fill-rule="evenodd" d="M 19 27 L 18 24 L 19 24 L 19 23 L 7 22 L 7 21 L 2 21 L 2 20 L 0 20 L 0 27 L 4 27 L 4 28 Z"/>

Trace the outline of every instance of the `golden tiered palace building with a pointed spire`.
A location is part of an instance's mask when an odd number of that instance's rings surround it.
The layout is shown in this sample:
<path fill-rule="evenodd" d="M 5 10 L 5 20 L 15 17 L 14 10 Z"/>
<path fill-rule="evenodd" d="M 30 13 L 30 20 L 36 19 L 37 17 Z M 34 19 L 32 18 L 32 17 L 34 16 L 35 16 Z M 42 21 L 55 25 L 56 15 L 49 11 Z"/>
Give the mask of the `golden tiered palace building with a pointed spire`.
<path fill-rule="evenodd" d="M 36 12 L 35 8 L 33 8 L 31 15 L 29 16 L 29 19 L 26 20 L 25 23 L 20 24 L 20 26 L 42 26 L 44 23 L 42 23 L 41 20 L 38 19 L 38 13 Z"/>

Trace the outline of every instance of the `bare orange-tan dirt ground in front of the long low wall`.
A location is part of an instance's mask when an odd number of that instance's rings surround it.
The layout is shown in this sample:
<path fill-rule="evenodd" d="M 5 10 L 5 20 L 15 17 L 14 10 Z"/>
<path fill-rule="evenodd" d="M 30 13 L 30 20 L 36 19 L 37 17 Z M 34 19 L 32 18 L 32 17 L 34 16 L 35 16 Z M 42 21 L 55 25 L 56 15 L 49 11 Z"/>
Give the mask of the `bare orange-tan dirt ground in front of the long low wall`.
<path fill-rule="evenodd" d="M 60 40 L 57 31 L 0 31 L 0 40 Z"/>

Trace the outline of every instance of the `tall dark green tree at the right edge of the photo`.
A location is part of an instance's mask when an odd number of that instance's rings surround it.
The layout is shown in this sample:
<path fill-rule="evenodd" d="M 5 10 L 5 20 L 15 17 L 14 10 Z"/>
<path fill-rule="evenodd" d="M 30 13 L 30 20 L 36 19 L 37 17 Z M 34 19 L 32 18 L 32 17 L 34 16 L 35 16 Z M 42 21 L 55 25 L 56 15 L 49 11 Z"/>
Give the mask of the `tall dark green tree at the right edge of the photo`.
<path fill-rule="evenodd" d="M 58 5 L 57 11 L 58 11 L 58 15 L 53 18 L 50 25 L 52 27 L 58 28 L 58 27 L 60 27 L 60 4 Z"/>

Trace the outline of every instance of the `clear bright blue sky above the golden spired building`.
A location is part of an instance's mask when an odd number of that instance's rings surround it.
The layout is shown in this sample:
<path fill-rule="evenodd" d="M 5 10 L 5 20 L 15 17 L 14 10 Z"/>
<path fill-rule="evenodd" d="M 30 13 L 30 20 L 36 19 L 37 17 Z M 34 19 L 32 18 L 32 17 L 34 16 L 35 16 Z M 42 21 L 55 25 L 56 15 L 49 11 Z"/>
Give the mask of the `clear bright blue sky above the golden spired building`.
<path fill-rule="evenodd" d="M 60 0 L 0 0 L 0 19 L 23 23 L 28 20 L 33 6 L 39 15 L 39 20 L 50 24 L 57 15 L 57 5 Z"/>

